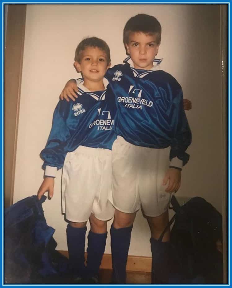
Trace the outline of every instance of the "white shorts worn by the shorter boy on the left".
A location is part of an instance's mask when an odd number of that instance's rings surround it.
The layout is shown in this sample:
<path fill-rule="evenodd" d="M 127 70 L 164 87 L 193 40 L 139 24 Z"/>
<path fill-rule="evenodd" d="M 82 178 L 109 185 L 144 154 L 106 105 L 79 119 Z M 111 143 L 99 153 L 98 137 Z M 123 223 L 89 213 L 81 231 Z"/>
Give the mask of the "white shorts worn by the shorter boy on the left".
<path fill-rule="evenodd" d="M 85 222 L 91 213 L 99 220 L 114 216 L 111 193 L 111 151 L 79 146 L 67 153 L 62 174 L 62 212 L 72 222 Z"/>

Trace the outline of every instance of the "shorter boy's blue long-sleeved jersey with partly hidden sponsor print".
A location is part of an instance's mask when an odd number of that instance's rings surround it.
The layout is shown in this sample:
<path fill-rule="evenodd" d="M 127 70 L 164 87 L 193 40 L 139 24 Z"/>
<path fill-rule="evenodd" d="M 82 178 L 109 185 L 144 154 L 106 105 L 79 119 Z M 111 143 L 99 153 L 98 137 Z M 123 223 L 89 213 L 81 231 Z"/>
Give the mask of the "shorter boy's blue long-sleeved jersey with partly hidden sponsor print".
<path fill-rule="evenodd" d="M 112 149 L 116 139 L 116 107 L 110 89 L 90 92 L 82 83 L 78 89 L 74 102 L 60 100 L 55 108 L 50 135 L 40 154 L 45 175 L 55 176 L 53 168 L 62 168 L 66 154 L 79 145 Z"/>

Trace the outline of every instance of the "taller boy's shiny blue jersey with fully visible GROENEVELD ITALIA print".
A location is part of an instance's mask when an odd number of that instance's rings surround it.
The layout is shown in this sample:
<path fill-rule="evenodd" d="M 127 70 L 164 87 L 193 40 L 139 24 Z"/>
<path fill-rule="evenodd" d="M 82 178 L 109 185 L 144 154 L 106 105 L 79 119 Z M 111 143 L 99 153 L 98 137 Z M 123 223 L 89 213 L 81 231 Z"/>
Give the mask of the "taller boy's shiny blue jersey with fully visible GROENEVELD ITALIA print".
<path fill-rule="evenodd" d="M 191 131 L 183 109 L 183 93 L 173 76 L 157 70 L 140 70 L 125 64 L 107 70 L 106 78 L 115 95 L 117 114 L 115 131 L 127 142 L 150 148 L 171 146 L 172 166 L 188 162 L 185 152 L 191 143 Z M 181 162 L 181 165 L 177 165 Z"/>

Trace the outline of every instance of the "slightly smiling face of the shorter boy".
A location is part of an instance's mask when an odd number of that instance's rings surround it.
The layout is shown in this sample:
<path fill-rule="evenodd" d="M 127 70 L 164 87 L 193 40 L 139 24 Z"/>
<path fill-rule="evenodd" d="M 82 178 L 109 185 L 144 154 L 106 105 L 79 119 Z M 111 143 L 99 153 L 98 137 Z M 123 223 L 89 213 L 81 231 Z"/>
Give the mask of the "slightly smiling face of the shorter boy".
<path fill-rule="evenodd" d="M 81 72 L 85 81 L 98 82 L 103 79 L 110 63 L 107 64 L 106 53 L 98 47 L 86 47 L 81 51 L 80 63 L 75 61 L 74 66 Z"/>

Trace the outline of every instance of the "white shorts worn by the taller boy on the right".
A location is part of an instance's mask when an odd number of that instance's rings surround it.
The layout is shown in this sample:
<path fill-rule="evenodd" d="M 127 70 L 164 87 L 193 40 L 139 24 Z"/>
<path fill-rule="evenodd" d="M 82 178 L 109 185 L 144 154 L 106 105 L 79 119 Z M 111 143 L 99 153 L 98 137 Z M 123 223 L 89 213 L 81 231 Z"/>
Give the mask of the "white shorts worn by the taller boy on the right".
<path fill-rule="evenodd" d="M 147 148 L 118 136 L 112 147 L 112 197 L 114 207 L 134 213 L 140 206 L 145 215 L 159 216 L 168 209 L 170 193 L 163 179 L 169 168 L 168 148 Z"/>

